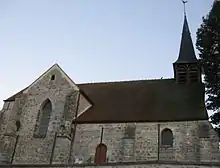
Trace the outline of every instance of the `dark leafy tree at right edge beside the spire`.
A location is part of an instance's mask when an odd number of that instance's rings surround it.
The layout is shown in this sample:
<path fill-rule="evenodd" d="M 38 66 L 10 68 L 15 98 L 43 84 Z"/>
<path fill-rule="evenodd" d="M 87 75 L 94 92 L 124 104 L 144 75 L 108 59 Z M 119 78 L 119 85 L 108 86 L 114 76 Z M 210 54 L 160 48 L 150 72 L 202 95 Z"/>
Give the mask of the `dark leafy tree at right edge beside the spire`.
<path fill-rule="evenodd" d="M 208 96 L 206 107 L 215 113 L 211 123 L 220 129 L 220 1 L 212 9 L 197 31 L 196 47 L 199 50 Z"/>

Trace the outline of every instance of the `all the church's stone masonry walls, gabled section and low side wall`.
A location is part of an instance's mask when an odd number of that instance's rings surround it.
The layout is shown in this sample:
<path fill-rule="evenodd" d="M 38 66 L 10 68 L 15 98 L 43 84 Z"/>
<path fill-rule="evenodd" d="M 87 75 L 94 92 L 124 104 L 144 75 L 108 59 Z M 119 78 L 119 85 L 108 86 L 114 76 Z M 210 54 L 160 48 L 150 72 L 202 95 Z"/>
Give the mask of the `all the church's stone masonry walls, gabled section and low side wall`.
<path fill-rule="evenodd" d="M 51 77 L 55 75 L 55 80 Z M 37 116 L 49 99 L 52 113 L 46 137 L 36 137 Z M 94 164 L 97 145 L 107 146 L 107 163 L 203 162 L 218 163 L 219 138 L 206 120 L 148 123 L 77 124 L 75 117 L 91 108 L 79 88 L 54 65 L 1 111 L 0 152 L 12 164 Z M 161 132 L 173 133 L 173 145 L 161 144 Z M 115 167 L 115 166 L 106 166 Z M 125 167 L 123 165 L 118 167 Z M 126 167 L 137 167 L 129 165 Z M 186 165 L 142 164 L 138 167 L 179 167 Z M 195 168 L 196 166 L 188 165 Z M 207 166 L 203 166 L 204 168 Z M 211 166 L 209 166 L 211 167 Z"/>

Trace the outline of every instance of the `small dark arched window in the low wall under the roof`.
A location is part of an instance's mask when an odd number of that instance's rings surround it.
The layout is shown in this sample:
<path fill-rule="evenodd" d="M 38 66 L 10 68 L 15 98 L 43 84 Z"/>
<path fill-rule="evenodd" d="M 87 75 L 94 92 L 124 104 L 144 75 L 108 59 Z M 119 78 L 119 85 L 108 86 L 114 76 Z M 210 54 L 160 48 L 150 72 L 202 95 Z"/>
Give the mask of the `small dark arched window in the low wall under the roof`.
<path fill-rule="evenodd" d="M 165 146 L 173 146 L 173 133 L 170 129 L 165 128 L 161 133 L 161 144 Z"/>

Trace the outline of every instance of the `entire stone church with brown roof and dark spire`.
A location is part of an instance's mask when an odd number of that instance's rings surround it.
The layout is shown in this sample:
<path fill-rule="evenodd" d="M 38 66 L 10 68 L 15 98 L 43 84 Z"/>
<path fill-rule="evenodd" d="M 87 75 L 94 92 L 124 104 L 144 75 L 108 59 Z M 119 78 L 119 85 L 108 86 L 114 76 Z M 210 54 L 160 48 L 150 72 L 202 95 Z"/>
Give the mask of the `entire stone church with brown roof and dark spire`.
<path fill-rule="evenodd" d="M 1 165 L 220 167 L 186 16 L 174 78 L 75 84 L 53 65 L 4 100 Z"/>

